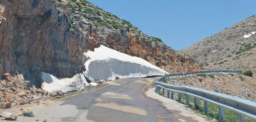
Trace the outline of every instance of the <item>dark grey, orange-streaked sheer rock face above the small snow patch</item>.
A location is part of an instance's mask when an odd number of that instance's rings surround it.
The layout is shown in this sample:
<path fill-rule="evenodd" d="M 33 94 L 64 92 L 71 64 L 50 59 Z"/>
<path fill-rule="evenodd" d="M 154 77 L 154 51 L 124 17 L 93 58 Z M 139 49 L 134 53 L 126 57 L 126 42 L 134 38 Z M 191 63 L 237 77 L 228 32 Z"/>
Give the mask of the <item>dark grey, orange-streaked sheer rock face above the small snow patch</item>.
<path fill-rule="evenodd" d="M 4 11 L 3 10 L 4 7 Z M 68 32 L 67 15 L 52 0 L 3 0 L 0 23 L 0 76 L 18 71 L 34 83 L 40 72 L 77 74 L 86 38 Z"/>

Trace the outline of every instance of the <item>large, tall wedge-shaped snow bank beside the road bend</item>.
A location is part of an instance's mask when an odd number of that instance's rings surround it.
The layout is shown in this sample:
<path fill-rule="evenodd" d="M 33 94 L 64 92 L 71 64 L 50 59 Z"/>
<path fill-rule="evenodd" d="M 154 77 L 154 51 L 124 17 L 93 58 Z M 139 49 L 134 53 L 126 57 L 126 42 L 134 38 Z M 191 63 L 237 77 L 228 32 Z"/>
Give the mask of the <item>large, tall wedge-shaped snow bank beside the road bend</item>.
<path fill-rule="evenodd" d="M 116 78 L 141 78 L 162 76 L 168 72 L 139 57 L 132 57 L 100 45 L 93 51 L 84 53 L 88 59 L 84 76 L 89 80 L 115 80 Z"/>

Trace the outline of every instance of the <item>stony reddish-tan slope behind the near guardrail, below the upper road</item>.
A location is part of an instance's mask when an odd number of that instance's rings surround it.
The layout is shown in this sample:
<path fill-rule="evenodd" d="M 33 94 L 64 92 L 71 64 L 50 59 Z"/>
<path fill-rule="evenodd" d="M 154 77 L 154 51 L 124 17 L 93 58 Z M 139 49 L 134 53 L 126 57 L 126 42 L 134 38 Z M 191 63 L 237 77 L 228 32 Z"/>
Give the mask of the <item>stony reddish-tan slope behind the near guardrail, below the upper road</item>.
<path fill-rule="evenodd" d="M 202 88 L 245 100 L 256 102 L 256 78 L 246 75 L 220 74 L 195 75 L 183 78 L 172 78 L 165 83 Z"/>

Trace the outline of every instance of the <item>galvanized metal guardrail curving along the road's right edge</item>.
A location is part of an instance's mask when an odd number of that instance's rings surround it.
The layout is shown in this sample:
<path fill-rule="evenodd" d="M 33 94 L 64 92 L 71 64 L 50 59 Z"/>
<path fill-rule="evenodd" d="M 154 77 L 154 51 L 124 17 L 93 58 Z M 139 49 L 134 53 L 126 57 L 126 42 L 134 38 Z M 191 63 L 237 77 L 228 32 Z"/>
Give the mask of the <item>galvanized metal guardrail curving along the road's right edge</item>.
<path fill-rule="evenodd" d="M 202 71 L 202 73 L 203 72 L 208 73 L 209 71 Z M 221 72 L 221 71 L 215 71 L 215 72 Z M 240 73 L 241 72 L 242 71 L 240 71 Z M 189 75 L 189 74 L 196 74 L 196 73 L 195 72 L 183 73 L 183 75 Z M 170 94 L 171 94 L 171 99 L 173 99 L 174 92 L 179 93 L 178 102 L 181 102 L 181 94 L 186 94 L 186 105 L 189 104 L 189 96 L 195 97 L 194 99 L 195 107 L 198 107 L 198 99 L 204 100 L 203 111 L 205 113 L 207 113 L 207 110 L 208 110 L 208 102 L 217 105 L 219 107 L 219 121 L 222 121 L 224 118 L 223 108 L 231 111 L 235 111 L 236 113 L 238 113 L 237 122 L 243 122 L 244 116 L 256 121 L 256 103 L 254 102 L 251 102 L 242 98 L 234 97 L 234 96 L 220 94 L 220 93 L 205 90 L 205 89 L 194 88 L 189 86 L 176 86 L 176 85 L 163 83 L 164 80 L 170 79 L 174 76 L 179 77 L 180 75 L 181 77 L 183 76 L 182 74 L 165 75 L 164 77 L 158 79 L 157 82 L 154 82 L 152 86 L 156 87 L 155 91 L 158 94 L 160 94 L 161 88 L 163 89 L 163 93 L 165 90 L 167 90 L 167 97 L 170 98 Z"/>

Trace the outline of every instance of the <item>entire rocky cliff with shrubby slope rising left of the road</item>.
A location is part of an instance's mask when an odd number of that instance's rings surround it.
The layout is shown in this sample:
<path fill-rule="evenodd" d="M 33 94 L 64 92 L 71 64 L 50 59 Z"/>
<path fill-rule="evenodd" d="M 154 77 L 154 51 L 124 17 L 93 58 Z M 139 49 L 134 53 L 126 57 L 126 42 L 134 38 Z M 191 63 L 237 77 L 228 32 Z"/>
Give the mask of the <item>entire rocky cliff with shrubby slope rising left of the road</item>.
<path fill-rule="evenodd" d="M 83 53 L 100 44 L 167 72 L 199 70 L 192 58 L 88 1 L 1 1 L 0 76 L 18 71 L 36 85 L 41 72 L 70 78 L 84 70 Z"/>

